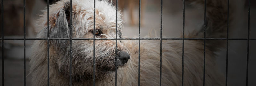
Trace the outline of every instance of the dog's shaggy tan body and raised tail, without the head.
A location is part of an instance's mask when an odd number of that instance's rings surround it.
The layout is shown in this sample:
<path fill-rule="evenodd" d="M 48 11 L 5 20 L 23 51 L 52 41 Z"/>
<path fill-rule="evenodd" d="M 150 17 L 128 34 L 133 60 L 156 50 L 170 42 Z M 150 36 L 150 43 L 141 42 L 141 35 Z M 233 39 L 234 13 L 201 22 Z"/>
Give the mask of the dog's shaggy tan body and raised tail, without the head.
<path fill-rule="evenodd" d="M 204 8 L 204 0 L 185 0 L 200 8 Z M 226 0 L 207 0 L 206 38 L 226 38 L 227 10 Z M 230 6 L 229 23 L 232 21 L 233 9 Z M 194 31 L 185 36 L 204 37 L 204 25 L 200 31 Z M 133 53 L 133 64 L 138 64 L 138 42 L 125 40 L 126 47 Z M 162 44 L 162 85 L 180 86 L 182 80 L 182 41 L 163 40 Z M 185 40 L 184 44 L 184 85 L 200 86 L 203 84 L 203 40 Z M 206 86 L 224 86 L 225 77 L 219 73 L 215 65 L 216 54 L 225 45 L 224 41 L 207 40 L 206 45 Z M 137 68 L 136 68 L 137 71 Z M 141 40 L 140 44 L 140 84 L 159 85 L 160 77 L 160 41 Z"/>

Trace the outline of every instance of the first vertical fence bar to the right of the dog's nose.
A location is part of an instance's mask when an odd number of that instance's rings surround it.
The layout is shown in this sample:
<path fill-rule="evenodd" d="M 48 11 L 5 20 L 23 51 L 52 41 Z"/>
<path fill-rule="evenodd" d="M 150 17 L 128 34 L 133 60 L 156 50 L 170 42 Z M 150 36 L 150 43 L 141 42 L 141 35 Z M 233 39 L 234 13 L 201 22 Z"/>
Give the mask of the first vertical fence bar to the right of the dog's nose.
<path fill-rule="evenodd" d="M 140 86 L 140 8 L 141 8 L 141 0 L 139 0 L 139 68 L 138 68 L 138 86 Z"/>

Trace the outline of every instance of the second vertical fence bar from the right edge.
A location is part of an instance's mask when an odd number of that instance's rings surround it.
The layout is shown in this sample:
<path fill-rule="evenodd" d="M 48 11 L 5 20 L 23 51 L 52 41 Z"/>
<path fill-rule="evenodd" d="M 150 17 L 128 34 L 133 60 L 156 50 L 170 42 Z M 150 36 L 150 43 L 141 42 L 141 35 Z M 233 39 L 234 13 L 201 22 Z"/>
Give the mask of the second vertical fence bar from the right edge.
<path fill-rule="evenodd" d="M 227 16 L 227 51 L 226 51 L 226 86 L 228 85 L 228 30 L 229 30 L 229 0 L 228 0 L 228 16 Z"/>

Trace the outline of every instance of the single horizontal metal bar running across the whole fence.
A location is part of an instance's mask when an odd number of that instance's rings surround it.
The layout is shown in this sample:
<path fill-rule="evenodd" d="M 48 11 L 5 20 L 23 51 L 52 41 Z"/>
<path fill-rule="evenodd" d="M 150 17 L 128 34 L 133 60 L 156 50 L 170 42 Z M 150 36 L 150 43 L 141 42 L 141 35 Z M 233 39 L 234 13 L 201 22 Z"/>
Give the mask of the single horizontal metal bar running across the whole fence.
<path fill-rule="evenodd" d="M 24 40 L 24 38 L 4 38 L 4 40 Z M 26 38 L 25 40 L 47 40 L 47 38 Z M 70 40 L 70 38 L 49 38 L 49 40 Z M 73 38 L 72 40 L 93 40 L 93 38 Z M 116 40 L 116 38 L 95 38 L 95 40 Z M 117 40 L 139 40 L 139 38 L 117 38 Z M 140 40 L 160 40 L 160 38 L 140 38 Z M 162 40 L 182 40 L 182 38 L 162 38 Z M 204 40 L 204 38 L 184 38 L 184 40 Z M 227 38 L 205 38 L 205 40 L 227 40 Z M 248 39 L 228 38 L 228 40 Z M 250 38 L 249 40 L 256 40 L 256 38 Z"/>

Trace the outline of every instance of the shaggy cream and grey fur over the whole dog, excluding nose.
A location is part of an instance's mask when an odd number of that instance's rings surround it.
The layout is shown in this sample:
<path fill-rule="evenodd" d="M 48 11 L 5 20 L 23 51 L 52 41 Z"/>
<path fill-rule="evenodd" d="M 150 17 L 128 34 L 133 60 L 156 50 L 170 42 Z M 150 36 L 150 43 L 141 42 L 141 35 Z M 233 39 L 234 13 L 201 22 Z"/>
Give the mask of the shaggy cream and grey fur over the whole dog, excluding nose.
<path fill-rule="evenodd" d="M 186 0 L 196 6 L 204 7 L 204 0 Z M 207 1 L 206 37 L 225 37 L 227 24 L 226 0 Z M 70 3 L 62 0 L 50 6 L 50 38 L 69 38 L 69 24 L 72 23 L 73 38 L 93 38 L 93 0 L 73 0 L 72 22 L 70 22 Z M 231 7 L 230 7 L 231 8 Z M 231 12 L 232 10 L 230 10 Z M 107 1 L 96 0 L 96 38 L 115 38 L 116 10 Z M 122 20 L 118 12 L 118 37 L 122 36 Z M 231 19 L 231 18 L 230 18 Z M 186 37 L 203 36 L 195 31 Z M 47 12 L 38 23 L 37 38 L 47 38 Z M 122 64 L 117 60 L 117 85 L 134 86 L 138 84 L 138 41 L 118 40 L 117 54 L 129 53 L 130 59 Z M 224 43 L 225 44 L 225 43 Z M 50 85 L 69 84 L 69 40 L 50 40 Z M 160 44 L 159 41 L 141 40 L 140 44 L 140 85 L 159 85 Z M 224 85 L 224 77 L 215 67 L 215 54 L 223 45 L 220 41 L 206 43 L 206 86 Z M 184 53 L 184 85 L 203 84 L 203 40 L 186 40 Z M 30 58 L 32 82 L 34 86 L 47 84 L 47 41 L 36 40 Z M 115 40 L 96 40 L 96 85 L 115 85 Z M 182 41 L 163 40 L 162 85 L 181 85 Z M 211 69 L 211 70 L 210 70 Z M 89 86 L 93 84 L 93 40 L 72 40 L 72 84 Z"/>

